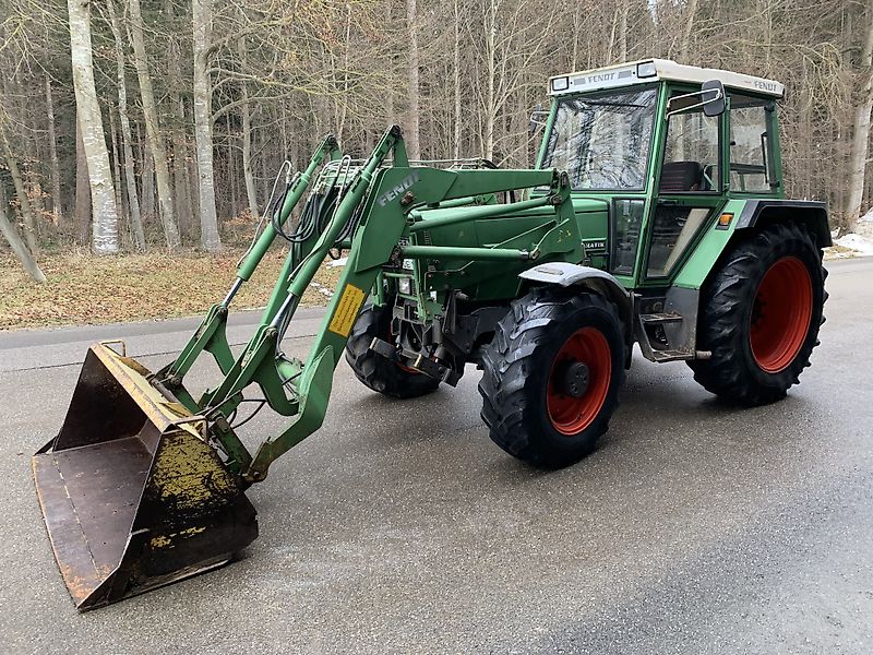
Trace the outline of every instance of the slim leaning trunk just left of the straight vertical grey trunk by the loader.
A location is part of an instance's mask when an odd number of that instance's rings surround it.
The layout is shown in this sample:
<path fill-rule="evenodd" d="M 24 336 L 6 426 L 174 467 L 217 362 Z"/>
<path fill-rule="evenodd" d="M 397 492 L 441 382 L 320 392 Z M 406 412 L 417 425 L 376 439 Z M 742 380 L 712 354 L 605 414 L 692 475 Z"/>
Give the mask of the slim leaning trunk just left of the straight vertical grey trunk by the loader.
<path fill-rule="evenodd" d="M 170 188 L 170 172 L 167 166 L 167 151 L 164 145 L 164 135 L 160 132 L 160 122 L 155 104 L 155 92 L 152 87 L 152 75 L 148 72 L 148 59 L 145 53 L 143 39 L 143 17 L 140 11 L 140 0 L 130 0 L 129 22 L 131 40 L 133 41 L 133 62 L 136 66 L 136 76 L 140 80 L 140 93 L 143 100 L 143 117 L 145 118 L 145 138 L 152 160 L 155 163 L 157 178 L 158 205 L 160 207 L 160 223 L 164 226 L 164 237 L 167 248 L 176 250 L 181 246 L 179 226 L 176 223 L 176 205 L 172 202 Z"/>

